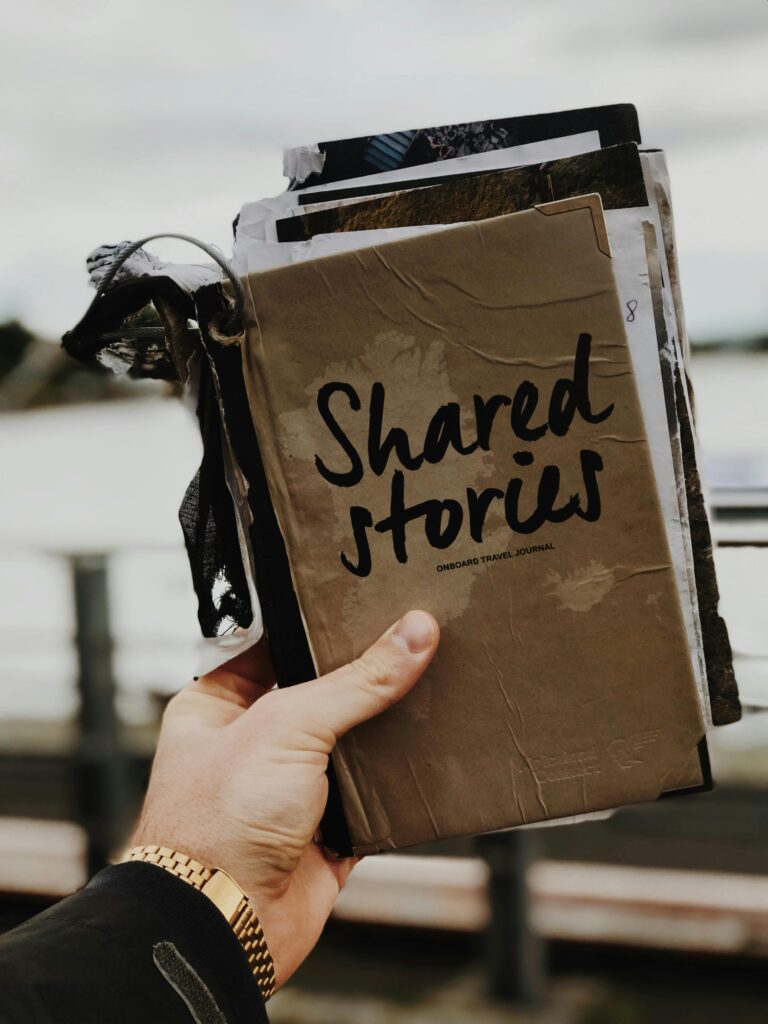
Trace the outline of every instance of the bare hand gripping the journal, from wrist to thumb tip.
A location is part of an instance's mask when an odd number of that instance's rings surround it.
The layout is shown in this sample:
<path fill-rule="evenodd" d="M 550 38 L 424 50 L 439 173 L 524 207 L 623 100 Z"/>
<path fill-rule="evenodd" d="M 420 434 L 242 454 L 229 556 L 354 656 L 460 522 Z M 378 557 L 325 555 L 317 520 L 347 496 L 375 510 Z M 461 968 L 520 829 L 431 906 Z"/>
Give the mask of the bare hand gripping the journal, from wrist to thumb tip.
<path fill-rule="evenodd" d="M 273 689 L 263 643 L 168 705 L 133 846 L 220 867 L 248 895 L 283 984 L 319 938 L 353 858 L 313 842 L 336 740 L 414 686 L 439 631 L 410 611 L 357 660 Z"/>

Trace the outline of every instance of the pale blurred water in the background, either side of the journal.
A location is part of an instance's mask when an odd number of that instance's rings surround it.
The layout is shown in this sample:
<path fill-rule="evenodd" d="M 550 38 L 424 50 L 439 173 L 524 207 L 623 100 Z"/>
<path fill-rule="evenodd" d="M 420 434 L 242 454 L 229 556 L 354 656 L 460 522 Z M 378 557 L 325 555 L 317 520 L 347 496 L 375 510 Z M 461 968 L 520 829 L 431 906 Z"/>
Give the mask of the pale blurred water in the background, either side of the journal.
<path fill-rule="evenodd" d="M 768 355 L 693 359 L 702 450 L 768 451 Z M 196 602 L 177 509 L 200 458 L 197 424 L 175 400 L 81 406 L 0 417 L 0 719 L 60 718 L 74 702 L 66 556 L 113 552 L 111 594 L 122 710 L 147 711 L 197 668 Z M 751 549 L 718 552 L 722 610 L 745 673 L 768 654 L 768 572 Z M 749 693 L 748 693 L 749 691 Z"/>

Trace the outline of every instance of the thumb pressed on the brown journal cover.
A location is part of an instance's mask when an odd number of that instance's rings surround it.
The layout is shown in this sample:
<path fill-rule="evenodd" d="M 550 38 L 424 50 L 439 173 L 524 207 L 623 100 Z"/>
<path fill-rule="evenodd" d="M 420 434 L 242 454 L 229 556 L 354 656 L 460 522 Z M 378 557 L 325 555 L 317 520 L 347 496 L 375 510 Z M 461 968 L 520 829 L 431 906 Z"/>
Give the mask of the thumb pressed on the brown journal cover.
<path fill-rule="evenodd" d="M 437 649 L 439 635 L 429 612 L 409 611 L 356 660 L 292 686 L 299 716 L 321 724 L 338 739 L 414 687 Z"/>

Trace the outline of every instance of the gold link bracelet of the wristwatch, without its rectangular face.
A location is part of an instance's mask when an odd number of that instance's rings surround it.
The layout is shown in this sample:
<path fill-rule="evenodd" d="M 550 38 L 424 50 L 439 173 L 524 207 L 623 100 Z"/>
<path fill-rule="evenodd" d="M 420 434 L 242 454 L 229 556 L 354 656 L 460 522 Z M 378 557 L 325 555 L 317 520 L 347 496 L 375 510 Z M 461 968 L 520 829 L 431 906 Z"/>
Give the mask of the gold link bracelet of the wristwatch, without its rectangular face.
<path fill-rule="evenodd" d="M 172 850 L 167 846 L 136 846 L 129 850 L 123 859 L 162 867 L 201 893 L 206 882 L 213 878 L 216 870 L 215 868 L 211 870 L 210 867 L 205 867 L 200 861 L 187 856 L 187 854 Z M 248 966 L 259 986 L 262 997 L 264 1000 L 268 999 L 274 994 L 276 987 L 274 964 L 259 919 L 248 902 L 247 896 L 244 895 L 240 901 L 234 916 L 229 922 L 229 927 L 243 947 L 248 958 Z"/>

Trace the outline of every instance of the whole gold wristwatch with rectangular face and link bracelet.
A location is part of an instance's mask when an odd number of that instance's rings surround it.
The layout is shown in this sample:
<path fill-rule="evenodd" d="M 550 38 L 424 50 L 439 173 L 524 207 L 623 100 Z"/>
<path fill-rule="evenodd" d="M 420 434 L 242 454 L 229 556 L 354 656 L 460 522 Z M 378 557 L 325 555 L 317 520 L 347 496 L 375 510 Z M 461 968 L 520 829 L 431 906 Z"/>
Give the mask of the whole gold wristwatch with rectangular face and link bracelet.
<path fill-rule="evenodd" d="M 167 846 L 136 846 L 128 851 L 123 860 L 142 860 L 145 864 L 156 864 L 207 896 L 226 918 L 245 949 L 249 967 L 264 999 L 273 994 L 274 964 L 259 919 L 246 894 L 226 871 L 218 867 L 204 867 L 185 853 L 171 850 Z"/>

